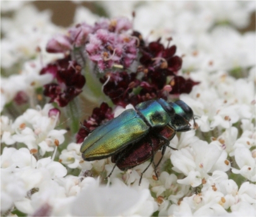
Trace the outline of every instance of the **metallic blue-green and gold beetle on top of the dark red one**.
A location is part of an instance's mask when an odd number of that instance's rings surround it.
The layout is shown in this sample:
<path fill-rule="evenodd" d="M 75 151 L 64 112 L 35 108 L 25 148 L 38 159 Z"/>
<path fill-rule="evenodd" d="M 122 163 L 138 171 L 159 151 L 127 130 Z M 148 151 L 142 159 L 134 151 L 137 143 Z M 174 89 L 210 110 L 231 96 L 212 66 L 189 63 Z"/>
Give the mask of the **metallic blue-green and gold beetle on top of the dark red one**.
<path fill-rule="evenodd" d="M 155 128 L 168 125 L 175 131 L 190 130 L 188 121 L 193 111 L 181 100 L 168 103 L 160 98 L 139 103 L 135 109 L 125 110 L 88 134 L 80 148 L 83 159 L 92 161 L 113 156 Z"/>

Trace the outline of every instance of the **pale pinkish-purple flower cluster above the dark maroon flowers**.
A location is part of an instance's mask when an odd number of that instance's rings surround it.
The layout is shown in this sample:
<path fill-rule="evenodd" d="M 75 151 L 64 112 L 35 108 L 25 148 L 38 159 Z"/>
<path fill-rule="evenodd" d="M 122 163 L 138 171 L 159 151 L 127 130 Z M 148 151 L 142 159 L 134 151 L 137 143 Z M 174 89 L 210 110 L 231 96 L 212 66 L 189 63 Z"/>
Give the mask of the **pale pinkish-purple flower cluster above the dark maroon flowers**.
<path fill-rule="evenodd" d="M 69 34 L 57 35 L 46 47 L 48 52 L 63 52 L 85 46 L 90 61 L 100 72 L 114 65 L 128 68 L 137 57 L 136 39 L 127 33 L 131 22 L 126 18 L 102 19 L 94 26 L 82 23 L 70 28 Z"/>

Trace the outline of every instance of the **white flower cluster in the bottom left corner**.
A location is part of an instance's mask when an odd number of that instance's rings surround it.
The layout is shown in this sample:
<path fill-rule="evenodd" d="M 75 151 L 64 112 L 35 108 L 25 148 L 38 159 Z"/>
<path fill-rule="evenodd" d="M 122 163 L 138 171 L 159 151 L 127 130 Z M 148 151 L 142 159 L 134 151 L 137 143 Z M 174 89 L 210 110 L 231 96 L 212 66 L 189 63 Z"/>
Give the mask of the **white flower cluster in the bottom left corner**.
<path fill-rule="evenodd" d="M 4 148 L 1 156 L 1 211 L 15 204 L 23 213 L 32 213 L 33 189 L 66 175 L 66 168 L 51 157 L 36 160 L 27 148 Z M 58 189 L 56 189 L 58 191 Z"/>

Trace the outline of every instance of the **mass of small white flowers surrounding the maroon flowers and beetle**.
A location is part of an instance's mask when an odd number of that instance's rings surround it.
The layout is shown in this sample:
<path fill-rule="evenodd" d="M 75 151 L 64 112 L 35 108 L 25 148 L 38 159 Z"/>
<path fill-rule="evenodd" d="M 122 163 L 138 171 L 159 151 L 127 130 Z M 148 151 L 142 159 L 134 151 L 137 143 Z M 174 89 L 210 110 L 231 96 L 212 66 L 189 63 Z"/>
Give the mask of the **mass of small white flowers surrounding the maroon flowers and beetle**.
<path fill-rule="evenodd" d="M 139 186 L 149 162 L 126 172 L 113 170 L 110 158 L 84 161 L 81 144 L 71 140 L 57 159 L 56 147 L 65 143 L 67 131 L 55 129 L 59 112 L 52 115 L 51 104 L 28 108 L 13 121 L 2 114 L 1 216 L 255 216 L 256 37 L 235 29 L 248 25 L 255 2 L 99 4 L 110 16 L 130 16 L 135 10 L 134 28 L 143 34 L 155 30 L 150 37 L 173 37 L 178 54 L 184 54 L 183 73 L 200 81 L 191 93 L 180 95 L 193 109 L 198 129 L 175 136 L 170 146 L 177 150 L 166 150 L 159 180 L 149 167 Z M 35 88 L 51 81 L 49 74 L 39 74 L 40 58 L 49 62 L 57 56 L 35 48 L 43 50 L 50 35 L 61 32 L 49 13 L 30 4 L 4 3 L 1 8 L 9 9 L 15 18 L 2 20 L 1 67 L 8 73 L 16 64 L 23 69 L 1 78 L 1 110 L 18 91 L 32 99 Z M 97 16 L 78 5 L 75 20 L 82 18 L 90 23 Z M 231 76 L 236 71 L 243 76 Z M 106 177 L 111 170 L 106 182 L 93 177 Z"/>

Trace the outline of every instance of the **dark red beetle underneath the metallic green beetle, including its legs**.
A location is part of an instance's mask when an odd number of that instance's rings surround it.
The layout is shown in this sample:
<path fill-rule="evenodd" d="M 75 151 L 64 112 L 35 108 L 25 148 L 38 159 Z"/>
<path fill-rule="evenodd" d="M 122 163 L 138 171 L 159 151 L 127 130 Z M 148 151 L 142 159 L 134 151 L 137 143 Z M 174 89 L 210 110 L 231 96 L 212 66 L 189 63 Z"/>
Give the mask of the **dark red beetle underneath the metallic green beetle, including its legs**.
<path fill-rule="evenodd" d="M 176 104 L 180 104 L 181 108 L 186 108 L 186 105 L 184 105 L 182 101 L 175 102 Z M 174 108 L 176 105 L 173 105 Z M 143 140 L 133 144 L 133 146 L 128 146 L 123 150 L 122 152 L 117 153 L 116 155 L 113 155 L 111 158 L 111 161 L 113 163 L 116 163 L 116 166 L 120 170 L 128 170 L 130 168 L 136 167 L 137 165 L 140 165 L 141 163 L 150 160 L 149 165 L 143 170 L 140 176 L 140 182 L 142 180 L 143 173 L 149 168 L 151 163 L 154 163 L 154 155 L 155 153 L 162 149 L 162 156 L 160 160 L 158 161 L 157 165 L 154 164 L 154 169 L 156 170 L 159 163 L 161 163 L 162 157 L 166 151 L 166 147 L 169 146 L 169 142 L 171 139 L 174 138 L 176 132 L 185 132 L 189 131 L 190 124 L 189 120 L 193 118 L 193 113 L 190 112 L 189 108 L 186 108 L 186 112 L 190 115 L 185 115 L 183 112 L 177 112 L 174 117 L 171 120 L 171 125 L 174 127 L 170 127 L 169 125 L 164 127 L 159 127 L 157 129 L 152 130 L 150 134 L 145 136 Z M 185 116 L 184 116 L 185 115 Z M 194 126 L 195 126 L 195 120 Z M 172 148 L 169 146 L 169 148 Z M 175 148 L 172 148 L 173 150 L 176 150 Z M 109 174 L 111 175 L 111 174 Z M 155 175 L 157 177 L 157 172 L 155 171 Z M 158 179 L 158 177 L 157 177 Z"/>

